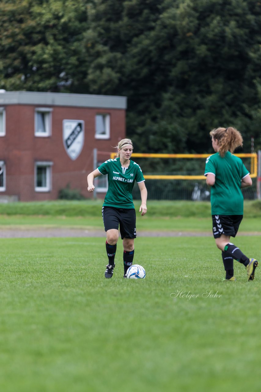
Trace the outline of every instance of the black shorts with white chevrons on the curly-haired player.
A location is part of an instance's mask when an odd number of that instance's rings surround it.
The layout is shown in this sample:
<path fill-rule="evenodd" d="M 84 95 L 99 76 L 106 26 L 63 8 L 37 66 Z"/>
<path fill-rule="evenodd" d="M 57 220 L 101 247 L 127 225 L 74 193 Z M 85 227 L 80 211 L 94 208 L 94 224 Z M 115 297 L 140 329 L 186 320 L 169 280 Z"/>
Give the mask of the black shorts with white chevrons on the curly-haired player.
<path fill-rule="evenodd" d="M 212 215 L 214 238 L 221 234 L 236 237 L 242 219 L 243 215 Z"/>

